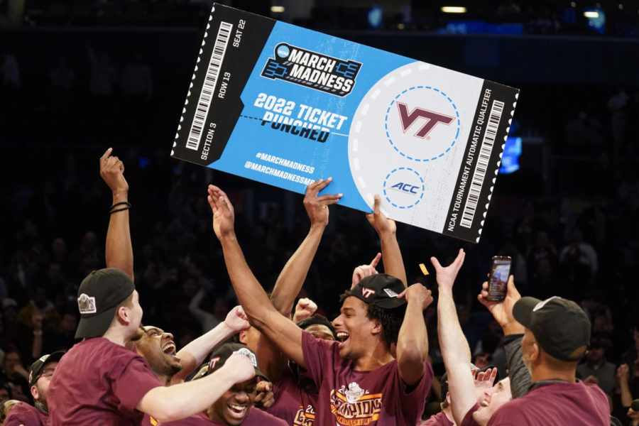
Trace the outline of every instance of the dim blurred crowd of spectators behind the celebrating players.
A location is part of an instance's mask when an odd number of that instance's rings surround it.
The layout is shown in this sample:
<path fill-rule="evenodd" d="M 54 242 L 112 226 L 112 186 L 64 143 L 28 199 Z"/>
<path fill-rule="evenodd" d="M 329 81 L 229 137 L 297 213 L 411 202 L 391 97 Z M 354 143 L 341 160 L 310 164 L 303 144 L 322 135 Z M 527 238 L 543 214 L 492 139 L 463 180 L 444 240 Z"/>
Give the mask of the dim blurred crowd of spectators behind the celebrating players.
<path fill-rule="evenodd" d="M 77 327 L 77 286 L 104 266 L 109 191 L 96 172 L 97 155 L 48 151 L 12 158 L 24 170 L 3 176 L 0 246 L 3 386 L 28 400 L 25 367 L 40 354 L 68 349 Z M 246 258 L 271 288 L 280 269 L 307 231 L 301 196 L 157 155 L 148 163 L 131 149 L 124 155 L 131 193 L 131 233 L 136 287 L 145 322 L 170 327 L 178 347 L 223 320 L 234 293 L 214 239 L 204 197 L 207 182 L 229 189 L 236 200 L 237 229 Z M 14 169 L 16 170 L 16 169 Z M 28 173 L 38 170 L 38 173 Z M 639 383 L 639 330 L 633 266 L 639 256 L 636 180 L 611 175 L 611 191 L 586 197 L 517 197 L 497 186 L 479 244 L 469 244 L 398 224 L 409 282 L 431 255 L 452 259 L 459 246 L 468 258 L 456 287 L 459 320 L 477 365 L 504 368 L 501 330 L 476 303 L 491 256 L 513 257 L 512 272 L 523 295 L 562 295 L 580 302 L 593 324 L 592 348 L 580 368 L 618 395 L 617 368 L 630 366 Z M 603 178 L 602 178 L 603 179 Z M 505 185 L 506 186 L 506 185 Z M 378 241 L 364 214 L 332 207 L 331 221 L 302 290 L 329 318 L 354 266 L 368 263 Z M 430 356 L 443 373 L 434 307 L 427 311 Z M 41 346 L 35 337 L 41 337 Z M 635 374 L 636 371 L 636 374 Z M 634 395 L 639 395 L 639 389 Z M 20 396 L 22 395 L 22 396 Z M 9 395 L 7 395 L 9 396 Z"/>

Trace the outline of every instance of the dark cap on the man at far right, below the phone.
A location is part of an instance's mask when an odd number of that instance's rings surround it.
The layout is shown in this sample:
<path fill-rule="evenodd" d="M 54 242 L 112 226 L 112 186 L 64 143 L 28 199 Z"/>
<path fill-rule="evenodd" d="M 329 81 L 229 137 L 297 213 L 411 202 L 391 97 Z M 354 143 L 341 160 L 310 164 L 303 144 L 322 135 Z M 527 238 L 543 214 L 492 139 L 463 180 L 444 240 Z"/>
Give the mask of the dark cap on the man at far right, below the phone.
<path fill-rule="evenodd" d="M 530 329 L 541 349 L 560 361 L 579 361 L 590 344 L 588 315 L 572 300 L 522 297 L 513 306 L 513 317 Z"/>

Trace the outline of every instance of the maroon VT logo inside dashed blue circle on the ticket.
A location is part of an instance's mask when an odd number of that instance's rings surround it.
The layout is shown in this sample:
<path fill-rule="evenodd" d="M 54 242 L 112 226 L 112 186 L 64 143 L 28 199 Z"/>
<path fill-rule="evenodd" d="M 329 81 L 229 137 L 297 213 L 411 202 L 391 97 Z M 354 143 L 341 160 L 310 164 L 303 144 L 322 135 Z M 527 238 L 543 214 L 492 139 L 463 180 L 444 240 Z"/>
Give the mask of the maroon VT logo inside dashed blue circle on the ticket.
<path fill-rule="evenodd" d="M 395 96 L 386 110 L 388 142 L 414 161 L 433 161 L 448 153 L 459 138 L 459 111 L 435 87 L 415 86 Z"/>

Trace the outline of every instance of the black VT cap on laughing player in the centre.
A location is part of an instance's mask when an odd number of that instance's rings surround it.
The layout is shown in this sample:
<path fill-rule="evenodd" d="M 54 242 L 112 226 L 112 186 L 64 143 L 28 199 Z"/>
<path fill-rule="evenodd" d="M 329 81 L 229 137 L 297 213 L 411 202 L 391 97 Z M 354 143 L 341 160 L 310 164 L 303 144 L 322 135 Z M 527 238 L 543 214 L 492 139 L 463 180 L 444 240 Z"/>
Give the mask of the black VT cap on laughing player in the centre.
<path fill-rule="evenodd" d="M 363 278 L 349 290 L 348 295 L 357 297 L 368 305 L 393 309 L 406 304 L 405 299 L 398 298 L 405 289 L 404 283 L 393 275 L 378 273 Z"/>

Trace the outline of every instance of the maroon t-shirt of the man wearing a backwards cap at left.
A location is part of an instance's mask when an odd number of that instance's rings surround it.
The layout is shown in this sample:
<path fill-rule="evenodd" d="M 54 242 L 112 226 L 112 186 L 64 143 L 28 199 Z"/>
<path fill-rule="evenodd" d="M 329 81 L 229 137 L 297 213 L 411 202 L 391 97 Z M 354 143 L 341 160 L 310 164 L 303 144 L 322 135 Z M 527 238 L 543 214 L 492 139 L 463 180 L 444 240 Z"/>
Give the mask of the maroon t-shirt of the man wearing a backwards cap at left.
<path fill-rule="evenodd" d="M 47 392 L 52 426 L 140 425 L 136 405 L 162 386 L 146 359 L 102 337 L 62 356 Z"/>

